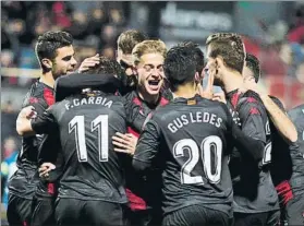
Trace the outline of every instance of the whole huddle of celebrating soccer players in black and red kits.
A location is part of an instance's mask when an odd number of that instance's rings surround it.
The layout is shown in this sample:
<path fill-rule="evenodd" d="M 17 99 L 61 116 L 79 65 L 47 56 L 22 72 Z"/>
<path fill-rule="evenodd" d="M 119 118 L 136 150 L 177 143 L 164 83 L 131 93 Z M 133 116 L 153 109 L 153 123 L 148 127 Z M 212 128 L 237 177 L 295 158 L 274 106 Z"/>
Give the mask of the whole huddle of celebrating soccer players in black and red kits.
<path fill-rule="evenodd" d="M 304 105 L 287 114 L 258 87 L 238 34 L 206 46 L 131 29 L 117 60 L 76 70 L 72 36 L 41 35 L 9 224 L 304 225 Z"/>

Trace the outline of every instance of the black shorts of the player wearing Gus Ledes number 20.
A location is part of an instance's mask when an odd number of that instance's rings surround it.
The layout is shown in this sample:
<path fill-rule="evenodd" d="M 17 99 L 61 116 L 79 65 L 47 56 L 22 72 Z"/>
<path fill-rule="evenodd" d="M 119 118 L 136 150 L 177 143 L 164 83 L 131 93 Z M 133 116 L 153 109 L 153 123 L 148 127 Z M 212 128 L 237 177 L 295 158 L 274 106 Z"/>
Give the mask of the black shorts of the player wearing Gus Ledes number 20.
<path fill-rule="evenodd" d="M 162 219 L 163 226 L 190 226 L 190 225 L 210 225 L 229 226 L 229 215 L 205 205 L 190 205 L 172 213 L 167 214 Z"/>

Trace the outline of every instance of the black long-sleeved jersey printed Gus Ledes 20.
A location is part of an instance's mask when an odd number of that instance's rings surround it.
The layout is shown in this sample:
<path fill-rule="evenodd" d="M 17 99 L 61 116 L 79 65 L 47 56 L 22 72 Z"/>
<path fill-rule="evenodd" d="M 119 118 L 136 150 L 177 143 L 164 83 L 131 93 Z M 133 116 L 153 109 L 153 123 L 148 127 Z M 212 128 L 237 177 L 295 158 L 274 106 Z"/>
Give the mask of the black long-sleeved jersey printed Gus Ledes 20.
<path fill-rule="evenodd" d="M 226 105 L 200 96 L 174 98 L 153 114 L 133 166 L 145 175 L 159 168 L 165 214 L 196 204 L 230 214 L 232 126 Z"/>

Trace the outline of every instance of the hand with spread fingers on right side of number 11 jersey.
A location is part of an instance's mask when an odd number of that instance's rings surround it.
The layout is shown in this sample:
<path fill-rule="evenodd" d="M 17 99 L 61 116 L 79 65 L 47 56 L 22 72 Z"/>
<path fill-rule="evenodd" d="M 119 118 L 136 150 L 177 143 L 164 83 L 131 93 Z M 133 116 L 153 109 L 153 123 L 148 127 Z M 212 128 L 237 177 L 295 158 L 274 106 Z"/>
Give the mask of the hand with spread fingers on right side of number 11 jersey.
<path fill-rule="evenodd" d="M 112 136 L 112 143 L 115 146 L 115 152 L 122 152 L 130 155 L 134 155 L 136 144 L 138 139 L 132 133 L 122 134 L 117 132 L 115 135 Z"/>

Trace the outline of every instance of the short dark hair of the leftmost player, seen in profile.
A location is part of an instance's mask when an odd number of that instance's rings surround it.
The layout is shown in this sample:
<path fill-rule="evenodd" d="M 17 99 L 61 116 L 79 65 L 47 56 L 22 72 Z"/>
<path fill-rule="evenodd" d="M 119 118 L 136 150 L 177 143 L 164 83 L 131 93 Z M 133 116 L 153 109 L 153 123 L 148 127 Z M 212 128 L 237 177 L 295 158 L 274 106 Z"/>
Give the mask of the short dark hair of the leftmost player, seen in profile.
<path fill-rule="evenodd" d="M 72 44 L 73 37 L 66 32 L 46 32 L 40 35 L 35 46 L 35 52 L 42 70 L 47 70 L 41 63 L 44 58 L 53 60 L 57 57 L 57 49 Z"/>

